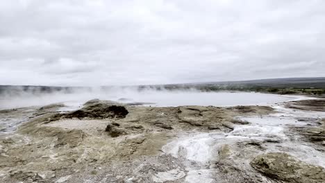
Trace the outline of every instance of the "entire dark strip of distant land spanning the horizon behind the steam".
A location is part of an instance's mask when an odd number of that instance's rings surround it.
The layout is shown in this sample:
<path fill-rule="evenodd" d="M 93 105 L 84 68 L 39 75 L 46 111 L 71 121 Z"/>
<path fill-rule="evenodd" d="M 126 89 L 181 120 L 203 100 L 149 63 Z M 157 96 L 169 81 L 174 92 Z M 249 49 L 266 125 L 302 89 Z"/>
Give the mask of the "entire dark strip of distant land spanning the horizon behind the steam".
<path fill-rule="evenodd" d="M 112 86 L 97 87 L 101 91 L 109 91 Z M 325 77 L 319 78 L 274 78 L 263 80 L 241 80 L 241 81 L 223 81 L 223 82 L 197 82 L 172 85 L 140 85 L 124 86 L 122 88 L 138 89 L 190 89 L 195 88 L 201 91 L 217 90 L 239 90 L 270 92 L 272 89 L 325 89 Z M 74 92 L 92 92 L 92 87 L 52 87 L 52 86 L 15 86 L 0 85 L 0 95 L 15 96 L 22 93 L 28 94 L 51 94 L 56 92 L 74 93 Z M 98 90 L 96 90 L 98 91 Z M 274 90 L 275 91 L 275 90 Z"/>

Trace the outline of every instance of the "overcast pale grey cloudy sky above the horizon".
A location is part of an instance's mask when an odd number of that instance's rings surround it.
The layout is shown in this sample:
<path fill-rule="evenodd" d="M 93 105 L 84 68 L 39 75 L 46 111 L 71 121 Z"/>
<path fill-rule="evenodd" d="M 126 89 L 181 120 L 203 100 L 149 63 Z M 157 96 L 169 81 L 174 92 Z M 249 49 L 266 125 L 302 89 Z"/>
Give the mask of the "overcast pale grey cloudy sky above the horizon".
<path fill-rule="evenodd" d="M 0 85 L 325 76 L 323 0 L 0 0 Z"/>

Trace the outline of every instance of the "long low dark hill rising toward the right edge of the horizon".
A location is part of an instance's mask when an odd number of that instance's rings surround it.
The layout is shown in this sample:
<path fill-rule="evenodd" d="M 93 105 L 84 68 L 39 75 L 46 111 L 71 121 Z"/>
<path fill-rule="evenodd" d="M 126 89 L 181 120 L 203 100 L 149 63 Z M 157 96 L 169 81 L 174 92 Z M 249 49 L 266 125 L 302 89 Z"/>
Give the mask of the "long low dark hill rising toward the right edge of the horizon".
<path fill-rule="evenodd" d="M 147 86 L 141 86 L 147 87 Z M 152 87 L 152 86 L 150 86 Z M 325 77 L 319 78 L 274 78 L 263 80 L 240 80 L 222 82 L 196 82 L 177 85 L 160 85 L 165 89 L 190 89 L 201 91 L 243 91 L 267 92 L 274 94 L 323 94 L 325 93 Z"/>

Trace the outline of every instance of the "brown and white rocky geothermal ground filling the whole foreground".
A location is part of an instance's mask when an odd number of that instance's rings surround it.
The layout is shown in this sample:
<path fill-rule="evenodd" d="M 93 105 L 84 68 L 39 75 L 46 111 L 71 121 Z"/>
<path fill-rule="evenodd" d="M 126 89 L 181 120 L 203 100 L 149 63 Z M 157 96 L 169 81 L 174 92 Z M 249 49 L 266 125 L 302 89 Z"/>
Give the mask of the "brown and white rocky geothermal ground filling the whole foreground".
<path fill-rule="evenodd" d="M 72 112 L 3 110 L 1 118 L 26 122 L 0 136 L 0 182 L 324 182 L 324 103 L 285 103 L 288 116 L 265 106 L 99 100 Z"/>

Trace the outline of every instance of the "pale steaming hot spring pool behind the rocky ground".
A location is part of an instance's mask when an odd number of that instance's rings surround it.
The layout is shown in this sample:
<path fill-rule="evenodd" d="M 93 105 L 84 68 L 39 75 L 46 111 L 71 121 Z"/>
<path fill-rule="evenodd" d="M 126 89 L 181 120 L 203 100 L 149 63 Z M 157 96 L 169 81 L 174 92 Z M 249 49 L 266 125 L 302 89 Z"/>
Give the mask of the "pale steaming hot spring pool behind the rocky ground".
<path fill-rule="evenodd" d="M 260 94 L 254 92 L 197 92 L 189 91 L 157 91 L 144 90 L 138 92 L 132 89 L 115 89 L 106 92 L 74 92 L 72 94 L 22 94 L 20 96 L 0 96 L 0 109 L 28 107 L 33 105 L 49 105 L 65 103 L 76 109 L 86 101 L 94 98 L 117 101 L 119 103 L 147 103 L 151 106 L 180 106 L 180 105 L 267 105 L 293 100 L 294 96 L 275 94 Z M 66 109 L 68 110 L 68 109 Z"/>

